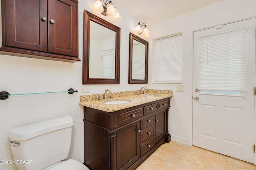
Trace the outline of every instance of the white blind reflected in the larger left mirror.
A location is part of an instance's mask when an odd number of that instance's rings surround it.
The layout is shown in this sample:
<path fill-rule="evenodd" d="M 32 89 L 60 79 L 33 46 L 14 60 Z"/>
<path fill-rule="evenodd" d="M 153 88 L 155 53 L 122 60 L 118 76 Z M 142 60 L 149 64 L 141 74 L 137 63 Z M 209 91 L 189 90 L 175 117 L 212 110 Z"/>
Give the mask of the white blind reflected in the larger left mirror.
<path fill-rule="evenodd" d="M 115 78 L 115 51 L 102 51 L 102 77 Z"/>

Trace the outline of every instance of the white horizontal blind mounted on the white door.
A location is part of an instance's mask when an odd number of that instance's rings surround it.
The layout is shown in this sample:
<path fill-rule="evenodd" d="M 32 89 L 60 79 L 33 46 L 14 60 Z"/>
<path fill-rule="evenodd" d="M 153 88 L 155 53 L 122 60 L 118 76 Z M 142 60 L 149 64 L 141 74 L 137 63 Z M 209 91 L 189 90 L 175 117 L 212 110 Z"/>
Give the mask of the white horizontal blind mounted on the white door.
<path fill-rule="evenodd" d="M 245 91 L 247 29 L 199 38 L 198 89 Z"/>

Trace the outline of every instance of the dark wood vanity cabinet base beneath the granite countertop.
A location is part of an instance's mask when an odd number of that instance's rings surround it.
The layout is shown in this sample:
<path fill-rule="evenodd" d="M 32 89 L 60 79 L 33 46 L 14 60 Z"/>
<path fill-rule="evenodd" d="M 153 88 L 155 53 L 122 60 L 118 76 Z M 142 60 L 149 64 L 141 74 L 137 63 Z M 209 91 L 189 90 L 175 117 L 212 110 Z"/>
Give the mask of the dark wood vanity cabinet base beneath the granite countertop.
<path fill-rule="evenodd" d="M 84 106 L 84 164 L 92 170 L 134 170 L 170 142 L 170 98 L 114 112 Z"/>

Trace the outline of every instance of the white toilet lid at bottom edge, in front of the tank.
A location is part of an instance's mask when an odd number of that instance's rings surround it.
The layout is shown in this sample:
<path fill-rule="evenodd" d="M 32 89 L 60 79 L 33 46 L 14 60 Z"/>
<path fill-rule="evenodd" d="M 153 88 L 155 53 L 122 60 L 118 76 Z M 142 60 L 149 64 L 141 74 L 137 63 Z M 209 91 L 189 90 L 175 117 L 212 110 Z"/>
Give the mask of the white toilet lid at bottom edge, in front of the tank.
<path fill-rule="evenodd" d="M 84 164 L 74 160 L 69 159 L 57 166 L 54 166 L 50 170 L 89 170 Z"/>

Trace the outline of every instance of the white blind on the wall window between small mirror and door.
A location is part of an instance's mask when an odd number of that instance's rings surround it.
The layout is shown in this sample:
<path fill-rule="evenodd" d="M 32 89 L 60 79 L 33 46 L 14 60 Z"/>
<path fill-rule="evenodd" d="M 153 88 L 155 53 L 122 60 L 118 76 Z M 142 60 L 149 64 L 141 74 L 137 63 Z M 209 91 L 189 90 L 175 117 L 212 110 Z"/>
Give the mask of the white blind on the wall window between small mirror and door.
<path fill-rule="evenodd" d="M 156 40 L 156 82 L 182 82 L 182 34 Z"/>

